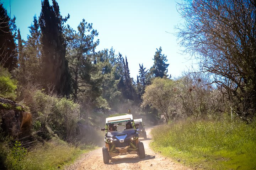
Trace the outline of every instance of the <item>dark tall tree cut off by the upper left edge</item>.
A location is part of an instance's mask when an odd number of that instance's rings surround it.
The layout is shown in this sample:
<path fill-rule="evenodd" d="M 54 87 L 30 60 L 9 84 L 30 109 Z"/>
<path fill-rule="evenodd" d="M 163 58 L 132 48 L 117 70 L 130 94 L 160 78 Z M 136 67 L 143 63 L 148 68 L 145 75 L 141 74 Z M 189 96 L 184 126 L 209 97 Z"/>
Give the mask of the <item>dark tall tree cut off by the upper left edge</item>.
<path fill-rule="evenodd" d="M 0 64 L 9 71 L 17 68 L 15 35 L 12 34 L 11 27 L 15 27 L 14 22 L 15 18 L 11 20 L 0 3 Z"/>

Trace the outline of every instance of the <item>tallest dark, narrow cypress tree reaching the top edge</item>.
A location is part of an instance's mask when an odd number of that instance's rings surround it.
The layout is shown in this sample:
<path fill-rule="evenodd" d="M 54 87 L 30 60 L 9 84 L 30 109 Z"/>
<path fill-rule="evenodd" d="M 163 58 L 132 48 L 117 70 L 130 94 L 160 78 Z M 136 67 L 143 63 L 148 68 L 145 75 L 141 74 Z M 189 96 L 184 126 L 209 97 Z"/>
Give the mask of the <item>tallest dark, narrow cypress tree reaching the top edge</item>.
<path fill-rule="evenodd" d="M 68 17 L 62 18 L 59 5 L 52 0 L 42 1 L 42 10 L 39 17 L 39 26 L 42 32 L 42 78 L 44 87 L 53 85 L 54 91 L 61 96 L 69 96 L 71 92 L 71 79 L 68 61 L 65 58 L 66 44 L 64 42 L 63 27 Z"/>

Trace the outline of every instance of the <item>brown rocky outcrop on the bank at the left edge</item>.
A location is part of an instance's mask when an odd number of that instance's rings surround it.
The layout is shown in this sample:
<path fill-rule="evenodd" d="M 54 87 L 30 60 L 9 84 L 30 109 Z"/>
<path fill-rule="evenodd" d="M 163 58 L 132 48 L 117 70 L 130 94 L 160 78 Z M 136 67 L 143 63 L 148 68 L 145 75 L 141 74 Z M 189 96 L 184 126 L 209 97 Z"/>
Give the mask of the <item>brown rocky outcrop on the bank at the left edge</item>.
<path fill-rule="evenodd" d="M 6 135 L 21 139 L 31 133 L 32 115 L 19 103 L 0 98 L 1 129 Z"/>

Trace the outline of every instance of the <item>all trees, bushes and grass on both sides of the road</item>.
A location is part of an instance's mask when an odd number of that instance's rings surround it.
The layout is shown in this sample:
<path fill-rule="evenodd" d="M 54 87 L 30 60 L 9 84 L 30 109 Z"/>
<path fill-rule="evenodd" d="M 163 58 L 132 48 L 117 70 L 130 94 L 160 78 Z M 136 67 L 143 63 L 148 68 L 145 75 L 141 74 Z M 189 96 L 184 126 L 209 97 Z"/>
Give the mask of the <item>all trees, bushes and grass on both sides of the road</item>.
<path fill-rule="evenodd" d="M 185 21 L 177 38 L 199 68 L 172 78 L 159 47 L 150 68 L 138 63 L 137 80 L 120 52 L 95 51 L 92 23 L 66 24 L 70 16 L 56 0 L 43 0 L 40 16 L 27 18 L 27 40 L 0 2 L 0 97 L 21 104 L 0 103 L 0 169 L 62 168 L 101 145 L 106 117 L 128 111 L 146 124 L 165 123 L 152 131 L 151 145 L 178 162 L 255 168 L 255 2 L 210 2 L 177 4 Z M 6 128 L 9 110 L 30 112 L 26 131 L 10 135 L 19 124 Z"/>

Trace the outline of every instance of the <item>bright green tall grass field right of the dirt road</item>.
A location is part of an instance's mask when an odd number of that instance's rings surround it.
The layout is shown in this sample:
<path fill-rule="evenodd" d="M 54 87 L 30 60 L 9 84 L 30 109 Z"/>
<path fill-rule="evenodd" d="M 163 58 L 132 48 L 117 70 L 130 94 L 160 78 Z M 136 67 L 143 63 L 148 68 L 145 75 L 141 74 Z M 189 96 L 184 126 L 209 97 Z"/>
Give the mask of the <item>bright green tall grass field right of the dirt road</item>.
<path fill-rule="evenodd" d="M 256 169 L 255 121 L 186 120 L 159 126 L 151 135 L 154 151 L 193 168 Z"/>

